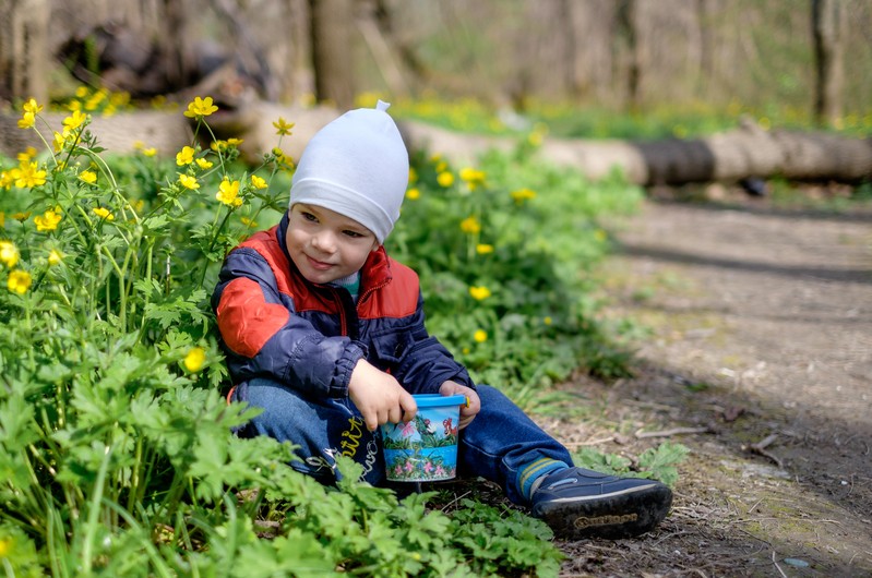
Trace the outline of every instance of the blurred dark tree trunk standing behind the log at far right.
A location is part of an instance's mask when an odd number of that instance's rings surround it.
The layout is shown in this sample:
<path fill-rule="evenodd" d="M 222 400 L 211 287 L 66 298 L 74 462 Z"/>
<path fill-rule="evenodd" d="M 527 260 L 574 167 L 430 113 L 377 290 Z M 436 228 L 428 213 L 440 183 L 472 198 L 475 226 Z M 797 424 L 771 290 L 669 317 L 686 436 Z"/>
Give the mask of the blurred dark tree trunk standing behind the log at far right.
<path fill-rule="evenodd" d="M 841 0 L 812 0 L 814 116 L 824 125 L 841 117 L 846 11 Z"/>

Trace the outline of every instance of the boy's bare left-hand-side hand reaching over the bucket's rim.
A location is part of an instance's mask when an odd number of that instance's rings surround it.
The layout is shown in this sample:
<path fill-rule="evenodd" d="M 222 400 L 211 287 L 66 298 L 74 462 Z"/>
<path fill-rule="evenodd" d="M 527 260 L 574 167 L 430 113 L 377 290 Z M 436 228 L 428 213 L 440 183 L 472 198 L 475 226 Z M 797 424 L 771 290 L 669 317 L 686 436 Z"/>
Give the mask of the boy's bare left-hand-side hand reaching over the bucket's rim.
<path fill-rule="evenodd" d="M 351 372 L 348 397 L 363 416 L 370 432 L 387 422 L 409 422 L 418 411 L 415 398 L 399 382 L 362 359 Z"/>

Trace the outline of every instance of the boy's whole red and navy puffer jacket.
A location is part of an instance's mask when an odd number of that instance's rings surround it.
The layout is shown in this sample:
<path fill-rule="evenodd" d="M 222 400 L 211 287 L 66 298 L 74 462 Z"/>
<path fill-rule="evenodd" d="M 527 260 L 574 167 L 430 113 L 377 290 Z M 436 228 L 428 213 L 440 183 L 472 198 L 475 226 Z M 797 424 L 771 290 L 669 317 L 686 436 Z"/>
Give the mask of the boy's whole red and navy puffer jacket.
<path fill-rule="evenodd" d="M 466 369 L 425 328 L 417 274 L 370 253 L 357 305 L 347 290 L 300 275 L 285 245 L 287 214 L 234 249 L 212 296 L 234 384 L 255 376 L 303 394 L 346 397 L 361 358 L 413 394 L 446 380 L 474 387 Z"/>

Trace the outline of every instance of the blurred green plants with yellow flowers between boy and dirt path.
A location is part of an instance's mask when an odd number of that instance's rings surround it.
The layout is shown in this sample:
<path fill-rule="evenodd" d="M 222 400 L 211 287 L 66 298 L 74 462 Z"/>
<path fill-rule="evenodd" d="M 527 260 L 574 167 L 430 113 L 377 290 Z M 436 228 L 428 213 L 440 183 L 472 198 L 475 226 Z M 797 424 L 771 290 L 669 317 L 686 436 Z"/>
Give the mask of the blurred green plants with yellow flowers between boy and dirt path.
<path fill-rule="evenodd" d="M 415 159 L 389 240 L 420 274 L 431 333 L 522 406 L 580 366 L 626 375 L 629 353 L 595 321 L 589 274 L 610 249 L 598 216 L 631 212 L 641 198 L 619 174 L 590 182 L 537 161 L 530 146 L 488 155 L 478 168 Z"/>

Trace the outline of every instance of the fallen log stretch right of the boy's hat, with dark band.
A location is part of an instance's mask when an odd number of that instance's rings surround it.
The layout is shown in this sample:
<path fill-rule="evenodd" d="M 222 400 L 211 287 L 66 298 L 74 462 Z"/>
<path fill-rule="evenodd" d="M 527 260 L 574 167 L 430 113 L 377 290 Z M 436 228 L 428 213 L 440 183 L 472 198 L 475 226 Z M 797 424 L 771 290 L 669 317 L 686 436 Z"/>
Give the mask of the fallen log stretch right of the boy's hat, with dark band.
<path fill-rule="evenodd" d="M 516 143 L 505 137 L 466 136 L 421 123 L 401 124 L 411 148 L 429 148 L 464 162 L 488 148 L 507 150 Z M 749 122 L 695 140 L 546 139 L 538 154 L 543 160 L 576 168 L 592 179 L 619 169 L 641 185 L 775 177 L 843 183 L 872 179 L 872 139 L 767 131 Z"/>

